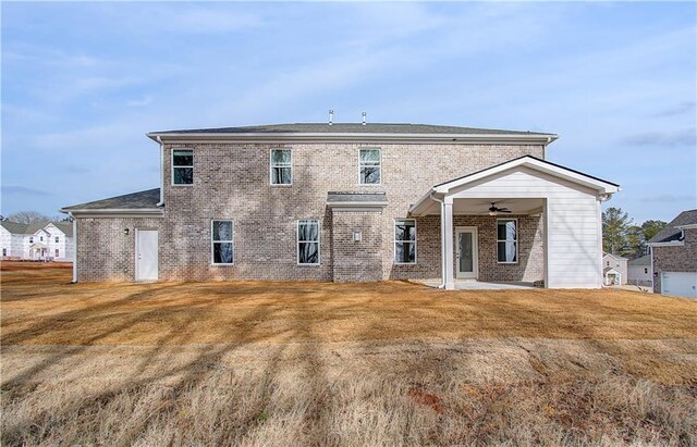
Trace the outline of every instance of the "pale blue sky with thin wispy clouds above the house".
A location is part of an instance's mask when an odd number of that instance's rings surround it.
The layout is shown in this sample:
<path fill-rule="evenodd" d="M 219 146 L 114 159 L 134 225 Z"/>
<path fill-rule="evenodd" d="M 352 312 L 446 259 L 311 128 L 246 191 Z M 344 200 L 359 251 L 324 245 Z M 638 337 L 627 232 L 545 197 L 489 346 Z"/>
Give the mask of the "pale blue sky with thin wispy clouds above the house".
<path fill-rule="evenodd" d="M 150 131 L 412 122 L 560 134 L 637 222 L 697 208 L 694 3 L 8 3 L 1 212 L 157 187 Z"/>

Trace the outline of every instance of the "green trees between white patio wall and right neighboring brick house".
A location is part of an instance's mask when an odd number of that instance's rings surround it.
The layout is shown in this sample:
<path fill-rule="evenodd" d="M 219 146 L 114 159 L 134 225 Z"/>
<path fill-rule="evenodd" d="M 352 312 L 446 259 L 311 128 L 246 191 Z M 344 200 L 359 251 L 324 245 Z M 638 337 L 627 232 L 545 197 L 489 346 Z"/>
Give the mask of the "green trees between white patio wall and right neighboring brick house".
<path fill-rule="evenodd" d="M 629 259 L 640 258 L 647 253 L 646 243 L 665 225 L 653 220 L 637 225 L 621 208 L 608 208 L 602 212 L 602 249 Z"/>

